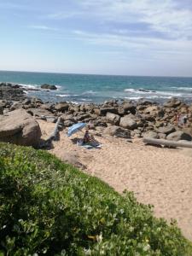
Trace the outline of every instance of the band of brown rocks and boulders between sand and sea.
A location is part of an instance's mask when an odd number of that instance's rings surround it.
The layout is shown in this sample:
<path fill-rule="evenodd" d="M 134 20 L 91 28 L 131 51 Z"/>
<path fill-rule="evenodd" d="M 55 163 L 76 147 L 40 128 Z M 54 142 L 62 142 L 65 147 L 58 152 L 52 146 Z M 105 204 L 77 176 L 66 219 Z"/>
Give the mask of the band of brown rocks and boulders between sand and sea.
<path fill-rule="evenodd" d="M 18 109 L 24 109 L 35 119 L 49 122 L 56 122 L 61 117 L 62 129 L 85 122 L 90 129 L 115 137 L 151 137 L 173 141 L 192 139 L 192 104 L 176 98 L 162 106 L 144 99 L 137 102 L 113 100 L 102 104 L 52 103 L 28 97 L 18 84 L 0 84 L 1 116 Z M 178 115 L 187 115 L 184 127 L 178 125 Z"/>

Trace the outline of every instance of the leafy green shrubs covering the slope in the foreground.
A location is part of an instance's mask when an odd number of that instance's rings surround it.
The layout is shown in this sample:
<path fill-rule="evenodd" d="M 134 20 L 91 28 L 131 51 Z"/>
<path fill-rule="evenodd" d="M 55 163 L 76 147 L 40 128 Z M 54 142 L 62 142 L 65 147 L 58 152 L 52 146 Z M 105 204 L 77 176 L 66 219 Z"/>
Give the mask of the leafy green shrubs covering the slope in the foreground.
<path fill-rule="evenodd" d="M 32 148 L 0 144 L 0 255 L 192 255 L 131 193 Z"/>

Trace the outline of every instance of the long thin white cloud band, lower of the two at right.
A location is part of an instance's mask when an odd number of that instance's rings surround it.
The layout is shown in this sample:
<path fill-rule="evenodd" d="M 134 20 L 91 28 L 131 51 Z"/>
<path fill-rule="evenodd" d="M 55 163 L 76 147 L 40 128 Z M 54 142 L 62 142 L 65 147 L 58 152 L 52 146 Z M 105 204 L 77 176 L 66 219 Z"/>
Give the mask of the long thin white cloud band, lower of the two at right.
<path fill-rule="evenodd" d="M 134 53 L 134 55 L 151 55 L 152 57 L 166 55 L 183 55 L 183 57 L 192 57 L 192 44 L 189 40 L 171 40 L 160 38 L 137 38 L 116 34 L 98 34 L 83 31 L 74 31 L 79 40 L 85 44 L 96 44 L 124 50 L 125 55 Z"/>

